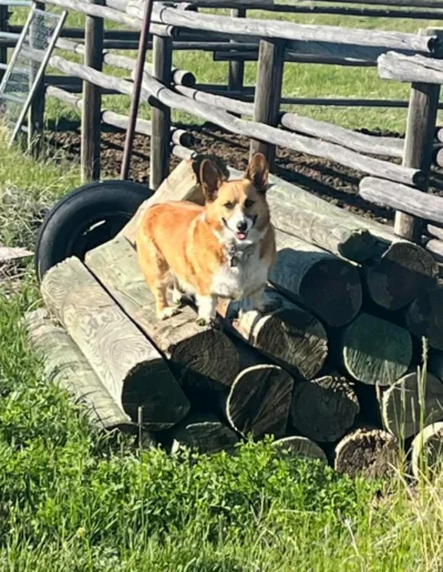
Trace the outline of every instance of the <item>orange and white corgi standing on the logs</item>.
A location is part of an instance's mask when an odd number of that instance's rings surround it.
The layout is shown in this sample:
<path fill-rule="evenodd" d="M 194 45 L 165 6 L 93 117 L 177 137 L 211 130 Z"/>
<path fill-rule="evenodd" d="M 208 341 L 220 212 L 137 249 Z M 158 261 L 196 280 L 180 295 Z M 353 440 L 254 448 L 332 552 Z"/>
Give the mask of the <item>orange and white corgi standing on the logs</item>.
<path fill-rule="evenodd" d="M 248 302 L 249 309 L 260 313 L 275 309 L 276 302 L 265 292 L 276 256 L 266 201 L 268 174 L 261 153 L 237 181 L 227 181 L 214 162 L 205 160 L 204 206 L 167 202 L 146 211 L 136 237 L 137 258 L 159 319 L 179 311 L 184 294 L 195 297 L 202 326 L 215 325 L 218 298 Z"/>

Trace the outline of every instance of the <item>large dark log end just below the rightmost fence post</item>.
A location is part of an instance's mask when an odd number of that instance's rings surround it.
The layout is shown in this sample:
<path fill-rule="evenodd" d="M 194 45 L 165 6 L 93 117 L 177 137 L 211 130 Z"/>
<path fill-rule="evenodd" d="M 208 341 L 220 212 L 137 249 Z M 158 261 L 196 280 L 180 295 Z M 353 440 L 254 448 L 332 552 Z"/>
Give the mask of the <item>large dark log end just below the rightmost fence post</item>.
<path fill-rule="evenodd" d="M 393 243 L 379 261 L 368 266 L 368 293 L 382 308 L 398 310 L 432 287 L 437 273 L 431 253 L 412 243 Z"/>

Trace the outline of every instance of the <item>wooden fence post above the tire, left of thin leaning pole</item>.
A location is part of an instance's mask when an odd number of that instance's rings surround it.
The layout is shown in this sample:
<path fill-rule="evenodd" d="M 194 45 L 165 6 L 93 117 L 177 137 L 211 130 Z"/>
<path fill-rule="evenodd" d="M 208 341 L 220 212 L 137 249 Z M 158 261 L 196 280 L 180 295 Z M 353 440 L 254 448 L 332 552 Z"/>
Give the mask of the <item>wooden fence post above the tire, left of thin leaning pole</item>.
<path fill-rule="evenodd" d="M 91 0 L 91 3 L 103 6 L 103 0 Z M 84 30 L 84 64 L 94 70 L 103 69 L 103 18 L 86 16 Z M 100 178 L 100 142 L 101 142 L 101 88 L 83 82 L 82 110 L 82 149 L 81 170 L 82 181 Z"/>

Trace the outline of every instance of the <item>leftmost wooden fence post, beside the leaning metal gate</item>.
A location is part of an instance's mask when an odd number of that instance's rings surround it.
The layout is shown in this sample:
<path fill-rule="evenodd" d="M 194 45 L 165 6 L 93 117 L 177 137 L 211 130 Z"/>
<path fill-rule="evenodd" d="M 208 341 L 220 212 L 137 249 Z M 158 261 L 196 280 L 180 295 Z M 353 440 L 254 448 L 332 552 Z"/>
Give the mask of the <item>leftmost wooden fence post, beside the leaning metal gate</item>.
<path fill-rule="evenodd" d="M 44 4 L 41 2 L 35 2 L 35 9 L 40 11 L 44 11 Z M 35 48 L 37 50 L 43 50 L 45 48 L 44 44 L 39 42 L 39 35 L 35 33 L 35 25 L 39 25 L 38 17 L 31 24 L 30 29 L 30 41 L 31 48 Z M 31 76 L 30 83 L 32 84 L 34 76 L 39 71 L 39 63 L 31 63 Z M 45 108 L 45 89 L 44 89 L 44 76 L 39 82 L 35 94 L 31 102 L 28 113 L 28 151 L 34 156 L 38 157 L 41 154 L 42 145 L 43 145 L 43 134 L 44 134 L 44 108 Z"/>

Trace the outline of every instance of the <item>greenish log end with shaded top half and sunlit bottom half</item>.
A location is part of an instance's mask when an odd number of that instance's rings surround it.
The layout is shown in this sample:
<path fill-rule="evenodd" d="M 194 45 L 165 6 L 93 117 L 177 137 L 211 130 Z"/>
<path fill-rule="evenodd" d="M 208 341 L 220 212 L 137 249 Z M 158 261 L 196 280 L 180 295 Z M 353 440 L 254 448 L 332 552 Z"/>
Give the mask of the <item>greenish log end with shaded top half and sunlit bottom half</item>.
<path fill-rule="evenodd" d="M 357 381 L 392 386 L 412 360 L 410 333 L 369 314 L 360 316 L 342 331 L 340 358 Z"/>

